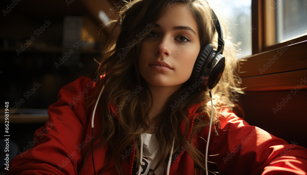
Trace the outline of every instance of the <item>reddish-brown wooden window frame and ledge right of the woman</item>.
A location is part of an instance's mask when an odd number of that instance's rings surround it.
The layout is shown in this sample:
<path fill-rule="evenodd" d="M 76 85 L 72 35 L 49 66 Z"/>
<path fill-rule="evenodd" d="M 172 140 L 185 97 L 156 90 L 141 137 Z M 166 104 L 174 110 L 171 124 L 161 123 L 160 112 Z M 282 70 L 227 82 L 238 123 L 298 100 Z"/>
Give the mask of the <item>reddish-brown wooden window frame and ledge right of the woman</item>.
<path fill-rule="evenodd" d="M 307 76 L 307 35 L 271 45 L 275 38 L 269 37 L 272 33 L 268 29 L 274 27 L 274 19 L 266 8 L 272 6 L 272 2 L 274 0 L 252 0 L 252 26 L 255 28 L 252 32 L 252 55 L 244 58 L 246 61 L 240 68 L 242 87 L 247 86 L 246 91 L 292 89 L 291 86 L 295 87 L 300 82 L 293 80 L 295 74 Z M 256 80 L 261 84 L 255 83 Z M 307 89 L 307 85 L 303 89 Z"/>

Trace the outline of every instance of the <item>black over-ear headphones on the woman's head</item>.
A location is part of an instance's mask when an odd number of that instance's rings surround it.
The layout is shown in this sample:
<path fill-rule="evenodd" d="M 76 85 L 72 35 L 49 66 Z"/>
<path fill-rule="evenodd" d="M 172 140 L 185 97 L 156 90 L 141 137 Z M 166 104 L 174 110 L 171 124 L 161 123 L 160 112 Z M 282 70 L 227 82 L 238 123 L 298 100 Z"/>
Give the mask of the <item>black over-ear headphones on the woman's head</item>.
<path fill-rule="evenodd" d="M 222 55 L 224 50 L 223 32 L 220 21 L 214 11 L 212 20 L 218 33 L 218 48 L 214 49 L 212 44 L 206 44 L 199 52 L 195 61 L 189 85 L 194 84 L 198 89 L 210 91 L 220 81 L 225 68 L 225 57 Z"/>

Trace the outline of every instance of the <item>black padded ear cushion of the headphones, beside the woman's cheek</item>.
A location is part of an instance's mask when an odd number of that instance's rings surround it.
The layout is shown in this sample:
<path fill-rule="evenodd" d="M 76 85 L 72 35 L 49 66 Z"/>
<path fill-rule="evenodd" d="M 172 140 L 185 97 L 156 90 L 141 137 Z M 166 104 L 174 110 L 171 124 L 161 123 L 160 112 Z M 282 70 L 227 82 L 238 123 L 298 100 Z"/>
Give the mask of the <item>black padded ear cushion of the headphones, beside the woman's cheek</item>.
<path fill-rule="evenodd" d="M 214 47 L 212 44 L 206 44 L 204 48 L 200 50 L 192 70 L 189 84 L 194 84 L 195 82 L 197 82 L 200 73 L 204 70 L 204 68 L 208 64 L 208 61 L 214 51 L 213 48 Z M 208 79 L 205 81 L 208 81 Z"/>

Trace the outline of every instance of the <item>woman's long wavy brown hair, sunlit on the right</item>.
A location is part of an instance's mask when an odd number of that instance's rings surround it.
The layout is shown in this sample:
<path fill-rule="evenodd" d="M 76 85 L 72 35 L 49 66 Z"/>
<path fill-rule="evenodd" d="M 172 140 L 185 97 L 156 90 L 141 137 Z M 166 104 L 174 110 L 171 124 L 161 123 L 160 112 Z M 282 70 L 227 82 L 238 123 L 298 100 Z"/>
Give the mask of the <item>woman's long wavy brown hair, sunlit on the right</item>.
<path fill-rule="evenodd" d="M 118 20 L 109 22 L 115 22 L 111 36 L 114 36 L 116 29 L 120 29 L 120 33 L 116 37 L 109 38 L 97 69 L 97 73 L 106 75 L 103 81 L 99 82 L 99 88 L 96 88 L 92 96 L 97 100 L 99 89 L 101 89 L 104 82 L 105 90 L 99 100 L 97 110 L 102 127 L 99 135 L 96 135 L 94 139 L 100 138 L 101 142 L 96 144 L 94 149 L 107 145 L 109 150 L 106 154 L 105 165 L 114 161 L 119 174 L 122 174 L 122 154 L 133 143 L 133 140 L 138 143 L 140 134 L 150 129 L 150 123 L 149 125 L 146 124 L 146 121 L 149 121 L 148 112 L 150 109 L 147 111 L 144 109 L 149 98 L 147 92 L 149 92 L 151 99 L 153 98 L 150 89 L 146 86 L 146 81 L 138 72 L 137 64 L 142 40 L 167 8 L 172 8 L 176 3 L 184 3 L 189 7 L 198 25 L 200 48 L 203 48 L 208 43 L 212 43 L 216 47 L 216 29 L 213 25 L 211 8 L 208 2 L 202 0 L 134 0 L 123 4 L 119 8 L 120 18 Z M 223 52 L 226 58 L 226 66 L 219 83 L 212 89 L 214 104 L 213 125 L 219 123 L 218 110 L 223 107 L 228 107 L 231 110 L 236 108 L 236 114 L 242 118 L 244 117 L 242 107 L 237 102 L 239 99 L 238 93 L 243 93 L 242 89 L 239 88 L 241 79 L 237 76 L 239 60 L 235 58 L 235 45 L 229 42 L 225 33 L 226 30 L 224 30 L 225 48 Z M 195 104 L 202 104 L 196 111 L 191 137 L 209 125 L 211 115 L 209 93 L 195 90 L 179 106 L 172 108 L 175 101 L 179 100 L 180 95 L 190 91 L 188 86 L 187 81 L 180 89 L 174 92 L 166 102 L 164 110 L 158 114 L 159 116 L 164 116 L 164 120 L 161 120 L 154 128 L 156 138 L 160 144 L 161 157 L 153 172 L 168 158 L 172 147 L 170 140 L 173 140 L 173 137 L 175 137 L 174 152 L 183 145 L 187 146 L 187 153 L 194 160 L 195 166 L 205 170 L 205 157 L 202 151 L 192 146 L 192 139 L 188 141 L 186 138 L 190 122 L 188 120 L 189 107 Z M 135 89 L 138 87 L 143 89 L 136 93 Z M 116 108 L 117 119 L 110 118 L 112 116 L 110 111 L 105 110 L 109 109 L 110 104 L 113 104 Z M 153 104 L 153 100 L 151 100 L 151 104 Z M 180 129 L 182 121 L 185 121 L 186 124 L 184 134 Z M 95 125 L 99 126 L 96 123 Z M 136 161 L 134 162 L 137 163 L 136 167 L 140 165 L 139 149 L 137 145 Z M 83 152 L 84 161 L 90 151 L 88 149 Z"/>

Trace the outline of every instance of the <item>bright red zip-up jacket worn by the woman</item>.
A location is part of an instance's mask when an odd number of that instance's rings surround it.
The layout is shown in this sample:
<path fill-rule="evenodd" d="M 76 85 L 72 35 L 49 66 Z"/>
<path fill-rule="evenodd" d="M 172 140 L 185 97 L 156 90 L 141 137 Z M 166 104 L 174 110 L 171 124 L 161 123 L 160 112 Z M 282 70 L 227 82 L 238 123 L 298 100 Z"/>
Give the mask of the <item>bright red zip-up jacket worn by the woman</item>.
<path fill-rule="evenodd" d="M 95 83 L 90 78 L 81 77 L 60 89 L 58 101 L 48 108 L 49 119 L 44 127 L 35 134 L 33 148 L 16 156 L 9 166 L 7 174 L 94 174 L 91 154 L 86 162 L 81 162 L 82 148 L 91 144 L 91 110 L 80 97 L 88 97 L 95 90 Z M 103 95 L 103 94 L 102 94 Z M 199 105 L 198 105 L 199 106 Z M 195 106 L 188 109 L 190 129 L 193 126 Z M 114 108 L 112 111 L 116 115 Z M 227 108 L 221 110 L 219 135 L 211 130 L 208 156 L 215 162 L 222 174 L 306 174 L 307 149 L 289 144 L 266 131 L 250 126 Z M 95 116 L 98 123 L 98 117 Z M 181 125 L 183 132 L 184 122 Z M 95 125 L 94 135 L 99 127 Z M 196 148 L 205 152 L 209 128 L 193 138 Z M 189 136 L 190 137 L 190 136 Z M 204 138 L 204 139 L 202 139 Z M 95 143 L 94 143 L 95 144 Z M 131 174 L 134 169 L 135 142 L 122 154 L 123 174 Z M 94 150 L 96 174 L 117 174 L 114 162 L 103 170 L 107 146 Z M 209 163 L 208 163 L 209 165 Z M 180 149 L 172 158 L 169 174 L 193 175 L 194 162 L 184 149 Z"/>

